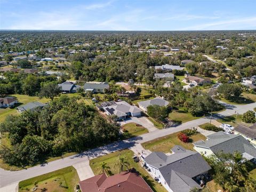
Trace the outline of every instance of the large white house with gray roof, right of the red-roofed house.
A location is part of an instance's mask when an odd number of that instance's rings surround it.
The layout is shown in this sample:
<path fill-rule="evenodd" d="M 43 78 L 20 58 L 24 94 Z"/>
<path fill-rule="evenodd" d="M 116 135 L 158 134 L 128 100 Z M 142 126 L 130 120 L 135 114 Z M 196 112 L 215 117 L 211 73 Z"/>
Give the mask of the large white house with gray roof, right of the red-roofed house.
<path fill-rule="evenodd" d="M 174 146 L 171 150 L 171 155 L 153 152 L 144 159 L 153 177 L 169 192 L 189 192 L 194 187 L 200 189 L 201 177 L 211 167 L 195 151 L 181 146 Z"/>

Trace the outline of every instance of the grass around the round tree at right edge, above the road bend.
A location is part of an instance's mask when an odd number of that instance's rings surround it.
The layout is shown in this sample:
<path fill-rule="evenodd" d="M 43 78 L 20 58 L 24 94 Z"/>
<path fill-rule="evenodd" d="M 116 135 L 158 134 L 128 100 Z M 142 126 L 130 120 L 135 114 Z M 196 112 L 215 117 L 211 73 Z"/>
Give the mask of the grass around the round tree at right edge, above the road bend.
<path fill-rule="evenodd" d="M 241 97 L 236 98 L 234 100 L 227 100 L 225 98 L 221 98 L 221 101 L 233 104 L 233 105 L 246 105 L 249 103 L 256 102 L 256 94 L 252 93 L 242 93 Z"/>

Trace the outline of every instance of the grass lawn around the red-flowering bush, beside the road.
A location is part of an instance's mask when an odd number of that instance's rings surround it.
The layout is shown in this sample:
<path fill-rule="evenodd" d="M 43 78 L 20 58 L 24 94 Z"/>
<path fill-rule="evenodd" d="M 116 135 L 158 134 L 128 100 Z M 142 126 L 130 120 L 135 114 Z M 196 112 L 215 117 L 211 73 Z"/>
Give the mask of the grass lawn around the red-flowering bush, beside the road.
<path fill-rule="evenodd" d="M 171 153 L 170 150 L 175 145 L 180 145 L 185 149 L 194 150 L 194 145 L 192 144 L 192 142 L 206 139 L 204 135 L 197 133 L 195 135 L 190 136 L 191 141 L 189 143 L 184 143 L 178 139 L 177 135 L 179 133 L 180 132 L 172 133 L 161 138 L 147 141 L 145 143 L 142 143 L 141 145 L 142 147 L 144 147 L 145 149 L 149 149 L 150 151 L 162 151 L 163 153 Z"/>

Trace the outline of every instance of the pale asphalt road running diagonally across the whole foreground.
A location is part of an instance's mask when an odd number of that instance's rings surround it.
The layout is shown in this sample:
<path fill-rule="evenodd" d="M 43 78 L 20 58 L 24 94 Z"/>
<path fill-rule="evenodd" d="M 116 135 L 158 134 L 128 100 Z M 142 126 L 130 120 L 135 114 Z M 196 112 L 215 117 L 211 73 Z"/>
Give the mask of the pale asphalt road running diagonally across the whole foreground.
<path fill-rule="evenodd" d="M 227 109 L 218 114 L 215 114 L 213 118 L 217 119 L 223 116 L 234 115 L 235 111 L 236 113 L 243 114 L 247 110 L 253 110 L 253 108 L 255 107 L 256 107 L 256 103 L 251 103 L 249 105 L 226 105 Z M 3 169 L 0 169 L 0 187 L 8 186 L 13 183 L 18 183 L 21 180 L 36 177 L 38 175 L 55 171 L 58 169 L 62 169 L 67 166 L 86 162 L 86 161 L 89 161 L 89 159 L 91 158 L 105 155 L 113 151 L 117 151 L 124 148 L 135 147 L 136 145 L 138 145 L 138 143 L 150 141 L 159 137 L 163 137 L 167 134 L 189 129 L 191 127 L 195 127 L 195 126 L 207 123 L 209 121 L 210 121 L 209 117 L 199 118 L 194 121 L 183 123 L 176 127 L 170 127 L 168 129 L 152 131 L 152 132 L 140 135 L 139 137 L 111 143 L 110 145 L 85 151 L 84 153 L 81 153 L 78 155 L 73 155 L 73 156 L 62 158 L 62 159 L 58 159 L 56 161 L 53 161 L 44 165 L 34 166 L 27 170 L 6 171 Z M 0 191 L 4 191 L 4 190 L 1 190 L 0 188 Z"/>

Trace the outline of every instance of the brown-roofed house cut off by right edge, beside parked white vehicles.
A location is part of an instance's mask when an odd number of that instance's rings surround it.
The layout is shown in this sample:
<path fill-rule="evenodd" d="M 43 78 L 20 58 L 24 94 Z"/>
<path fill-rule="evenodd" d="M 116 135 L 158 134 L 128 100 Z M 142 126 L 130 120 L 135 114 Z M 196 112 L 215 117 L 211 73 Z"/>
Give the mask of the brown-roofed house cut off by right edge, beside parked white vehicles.
<path fill-rule="evenodd" d="M 239 124 L 233 131 L 235 134 L 242 135 L 247 141 L 256 147 L 256 124 L 252 126 Z"/>

